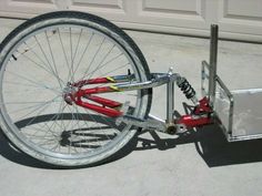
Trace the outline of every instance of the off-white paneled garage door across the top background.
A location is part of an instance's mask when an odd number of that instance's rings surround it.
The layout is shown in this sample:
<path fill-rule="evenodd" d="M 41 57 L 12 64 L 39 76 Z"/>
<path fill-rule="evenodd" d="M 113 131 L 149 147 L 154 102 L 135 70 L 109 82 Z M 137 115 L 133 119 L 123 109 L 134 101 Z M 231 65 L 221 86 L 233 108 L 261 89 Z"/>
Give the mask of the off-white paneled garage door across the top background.
<path fill-rule="evenodd" d="M 228 39 L 262 41 L 262 0 L 0 0 L 0 16 L 31 18 L 79 10 L 127 29 L 209 35 L 210 23 Z"/>

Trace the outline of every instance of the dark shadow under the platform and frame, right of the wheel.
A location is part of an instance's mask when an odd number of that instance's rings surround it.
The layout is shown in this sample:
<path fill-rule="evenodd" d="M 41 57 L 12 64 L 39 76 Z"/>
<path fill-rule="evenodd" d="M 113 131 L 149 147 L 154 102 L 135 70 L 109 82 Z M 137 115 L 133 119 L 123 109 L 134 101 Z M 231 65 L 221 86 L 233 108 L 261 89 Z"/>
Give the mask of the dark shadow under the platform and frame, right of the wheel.
<path fill-rule="evenodd" d="M 191 131 L 179 138 L 162 140 L 155 132 L 150 134 L 152 140 L 138 136 L 137 140 L 142 142 L 142 147 L 135 149 L 158 148 L 164 151 L 174 148 L 177 145 L 194 143 L 199 155 L 209 167 L 262 162 L 262 140 L 228 143 L 220 127 L 215 125 L 198 128 L 196 132 Z"/>

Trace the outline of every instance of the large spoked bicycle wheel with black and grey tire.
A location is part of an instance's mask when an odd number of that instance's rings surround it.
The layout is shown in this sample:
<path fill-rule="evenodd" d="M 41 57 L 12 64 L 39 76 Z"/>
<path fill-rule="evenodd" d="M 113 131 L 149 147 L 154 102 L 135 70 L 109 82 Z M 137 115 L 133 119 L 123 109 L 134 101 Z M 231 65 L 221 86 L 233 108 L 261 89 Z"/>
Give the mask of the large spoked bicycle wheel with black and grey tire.
<path fill-rule="evenodd" d="M 117 125 L 114 118 L 63 99 L 68 82 L 128 72 L 139 82 L 150 80 L 141 51 L 114 24 L 75 11 L 47 13 L 13 30 L 0 52 L 1 127 L 22 152 L 58 166 L 90 165 L 133 137 L 130 125 Z M 102 95 L 129 101 L 129 113 L 144 117 L 152 91 Z"/>

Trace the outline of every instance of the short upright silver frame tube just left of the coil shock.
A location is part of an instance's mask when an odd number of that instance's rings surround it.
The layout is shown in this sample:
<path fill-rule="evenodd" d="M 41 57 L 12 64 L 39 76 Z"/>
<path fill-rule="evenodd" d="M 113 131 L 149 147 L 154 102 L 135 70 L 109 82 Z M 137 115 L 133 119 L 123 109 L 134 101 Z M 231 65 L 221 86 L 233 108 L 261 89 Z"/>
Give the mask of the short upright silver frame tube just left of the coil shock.
<path fill-rule="evenodd" d="M 169 75 L 173 74 L 173 69 L 170 68 Z M 174 81 L 170 80 L 167 83 L 167 123 L 173 124 L 173 110 L 174 110 Z"/>

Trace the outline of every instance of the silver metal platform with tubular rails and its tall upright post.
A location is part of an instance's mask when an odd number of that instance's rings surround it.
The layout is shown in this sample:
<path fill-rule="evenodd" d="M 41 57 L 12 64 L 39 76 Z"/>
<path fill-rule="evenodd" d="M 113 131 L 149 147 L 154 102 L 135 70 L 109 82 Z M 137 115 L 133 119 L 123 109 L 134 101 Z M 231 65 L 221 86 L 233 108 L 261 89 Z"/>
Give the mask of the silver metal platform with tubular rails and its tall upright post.
<path fill-rule="evenodd" d="M 211 27 L 210 63 L 202 62 L 202 95 L 229 142 L 262 138 L 262 89 L 230 91 L 216 74 L 218 25 Z"/>

